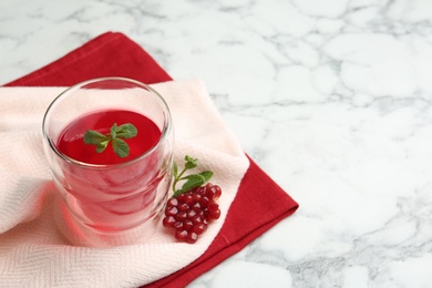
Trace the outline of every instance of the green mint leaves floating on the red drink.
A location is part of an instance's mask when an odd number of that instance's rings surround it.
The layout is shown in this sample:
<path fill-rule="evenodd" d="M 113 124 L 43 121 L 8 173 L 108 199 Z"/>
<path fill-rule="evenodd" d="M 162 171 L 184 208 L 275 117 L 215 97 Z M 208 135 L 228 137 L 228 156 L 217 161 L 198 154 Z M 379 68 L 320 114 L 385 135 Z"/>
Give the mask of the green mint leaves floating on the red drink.
<path fill-rule="evenodd" d="M 135 137 L 138 131 L 133 124 L 126 123 L 117 126 L 117 123 L 110 128 L 110 133 L 102 134 L 94 130 L 88 130 L 84 133 L 84 143 L 96 146 L 96 152 L 102 153 L 105 151 L 110 142 L 113 150 L 119 157 L 127 157 L 130 147 L 124 141 L 125 138 Z"/>

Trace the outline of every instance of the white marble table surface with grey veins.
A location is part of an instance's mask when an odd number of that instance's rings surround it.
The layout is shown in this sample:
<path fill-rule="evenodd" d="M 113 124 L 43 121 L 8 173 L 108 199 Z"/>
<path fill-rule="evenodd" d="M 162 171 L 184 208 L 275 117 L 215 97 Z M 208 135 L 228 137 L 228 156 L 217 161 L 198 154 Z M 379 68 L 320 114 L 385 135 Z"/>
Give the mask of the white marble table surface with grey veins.
<path fill-rule="evenodd" d="M 120 31 L 299 210 L 189 287 L 431 287 L 432 1 L 1 0 L 0 83 Z"/>

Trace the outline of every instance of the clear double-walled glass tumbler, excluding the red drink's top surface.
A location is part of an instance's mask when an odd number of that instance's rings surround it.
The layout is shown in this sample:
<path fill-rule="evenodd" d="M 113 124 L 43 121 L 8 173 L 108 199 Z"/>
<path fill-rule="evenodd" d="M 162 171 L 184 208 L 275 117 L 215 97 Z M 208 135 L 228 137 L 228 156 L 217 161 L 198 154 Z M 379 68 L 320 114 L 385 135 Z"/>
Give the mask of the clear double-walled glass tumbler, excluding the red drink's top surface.
<path fill-rule="evenodd" d="M 68 126 L 97 111 L 136 112 L 154 122 L 161 136 L 140 156 L 115 164 L 92 164 L 64 154 L 59 143 Z M 131 79 L 89 80 L 56 96 L 42 128 L 44 152 L 64 206 L 59 207 L 60 226 L 72 243 L 126 245 L 154 233 L 169 189 L 174 146 L 171 113 L 162 95 Z"/>

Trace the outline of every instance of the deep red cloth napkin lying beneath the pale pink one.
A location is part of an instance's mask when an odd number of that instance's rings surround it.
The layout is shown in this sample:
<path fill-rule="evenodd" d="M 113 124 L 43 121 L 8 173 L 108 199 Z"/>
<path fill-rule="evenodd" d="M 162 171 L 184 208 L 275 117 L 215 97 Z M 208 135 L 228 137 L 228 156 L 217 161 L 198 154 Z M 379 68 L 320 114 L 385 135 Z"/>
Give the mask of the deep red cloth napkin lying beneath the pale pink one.
<path fill-rule="evenodd" d="M 153 84 L 171 76 L 138 44 L 107 32 L 7 86 L 70 86 L 100 76 L 125 76 Z M 237 196 L 206 253 L 187 267 L 145 287 L 184 287 L 291 215 L 298 204 L 249 157 Z"/>

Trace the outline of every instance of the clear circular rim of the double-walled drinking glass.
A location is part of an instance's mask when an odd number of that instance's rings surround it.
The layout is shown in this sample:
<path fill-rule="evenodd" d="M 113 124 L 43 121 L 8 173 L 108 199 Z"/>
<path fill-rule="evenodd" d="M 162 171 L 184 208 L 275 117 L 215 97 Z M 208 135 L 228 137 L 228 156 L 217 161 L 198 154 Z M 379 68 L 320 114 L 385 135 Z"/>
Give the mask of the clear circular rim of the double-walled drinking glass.
<path fill-rule="evenodd" d="M 135 157 L 135 158 L 132 158 L 132 160 L 128 160 L 128 161 L 125 161 L 125 162 L 121 162 L 121 163 L 113 163 L 113 164 L 92 164 L 92 163 L 86 163 L 86 162 L 82 162 L 82 161 L 78 161 L 78 160 L 74 160 L 68 155 L 65 155 L 64 153 L 62 153 L 61 151 L 59 151 L 52 138 L 49 136 L 49 132 L 48 132 L 48 119 L 52 112 L 52 109 L 53 106 L 61 100 L 64 97 L 65 94 L 81 88 L 81 86 L 84 86 L 84 85 L 88 85 L 88 84 L 91 84 L 91 83 L 95 83 L 95 82 L 102 82 L 102 81 L 110 81 L 110 80 L 116 80 L 116 81 L 124 81 L 124 82 L 128 82 L 128 83 L 133 83 L 133 84 L 136 84 L 138 86 L 142 86 L 146 90 L 148 90 L 150 92 L 152 92 L 161 102 L 162 102 L 162 106 L 166 110 L 166 113 L 164 113 L 165 115 L 165 119 L 164 119 L 164 122 L 163 122 L 163 127 L 162 127 L 162 131 L 161 131 L 161 137 L 158 138 L 157 143 L 152 146 L 150 150 L 145 151 L 143 154 L 141 154 L 140 156 Z M 164 111 L 165 112 L 165 111 Z M 140 82 L 137 80 L 134 80 L 134 79 L 130 79 L 130 78 L 122 78 L 122 76 L 105 76 L 105 78 L 95 78 L 95 79 L 90 79 L 90 80 L 85 80 L 85 81 L 82 81 L 82 82 L 79 82 L 65 90 L 63 90 L 59 95 L 56 95 L 50 103 L 50 105 L 47 107 L 47 111 L 43 115 L 43 121 L 42 121 L 42 134 L 43 134 L 43 138 L 44 141 L 48 142 L 48 145 L 50 146 L 50 148 L 58 155 L 60 156 L 62 160 L 64 160 L 65 162 L 70 163 L 70 164 L 73 164 L 73 165 L 76 165 L 76 166 L 80 166 L 82 168 L 89 168 L 89 169 L 112 169 L 112 168 L 122 168 L 122 167 L 127 167 L 130 165 L 133 165 L 137 162 L 140 162 L 141 160 L 147 157 L 150 154 L 152 154 L 154 151 L 158 150 L 161 146 L 162 146 L 162 143 L 165 141 L 165 138 L 168 136 L 168 133 L 171 133 L 171 130 L 172 130 L 172 116 L 171 116 L 171 111 L 169 111 L 169 106 L 168 104 L 166 103 L 165 99 L 153 88 L 151 88 L 150 85 L 147 84 L 144 84 L 143 82 Z"/>

